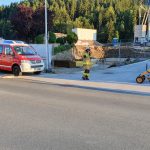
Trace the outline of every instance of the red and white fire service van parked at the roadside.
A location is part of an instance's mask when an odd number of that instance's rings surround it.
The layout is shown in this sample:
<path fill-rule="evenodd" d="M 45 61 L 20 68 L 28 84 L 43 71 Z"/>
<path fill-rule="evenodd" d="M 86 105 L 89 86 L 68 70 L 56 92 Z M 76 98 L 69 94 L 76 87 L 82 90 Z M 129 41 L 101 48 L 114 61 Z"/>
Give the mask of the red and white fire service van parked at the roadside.
<path fill-rule="evenodd" d="M 12 71 L 15 76 L 25 72 L 40 74 L 44 62 L 28 44 L 7 41 L 0 44 L 0 70 Z"/>

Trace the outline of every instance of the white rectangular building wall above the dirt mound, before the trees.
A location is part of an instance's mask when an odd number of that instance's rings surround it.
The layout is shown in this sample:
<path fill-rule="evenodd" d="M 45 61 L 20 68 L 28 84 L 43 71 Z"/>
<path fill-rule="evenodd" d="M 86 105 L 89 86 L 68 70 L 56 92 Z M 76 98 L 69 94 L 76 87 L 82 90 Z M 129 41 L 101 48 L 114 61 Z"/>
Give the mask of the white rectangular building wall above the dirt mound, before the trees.
<path fill-rule="evenodd" d="M 89 41 L 97 40 L 97 30 L 75 28 L 72 29 L 72 32 L 78 35 L 79 40 L 89 40 Z"/>

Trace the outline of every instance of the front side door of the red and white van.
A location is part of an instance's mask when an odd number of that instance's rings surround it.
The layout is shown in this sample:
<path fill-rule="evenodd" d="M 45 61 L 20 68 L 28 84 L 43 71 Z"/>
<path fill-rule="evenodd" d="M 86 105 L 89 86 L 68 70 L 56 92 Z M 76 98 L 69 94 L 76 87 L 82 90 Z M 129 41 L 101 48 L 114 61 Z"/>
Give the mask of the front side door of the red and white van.
<path fill-rule="evenodd" d="M 1 64 L 3 66 L 3 69 L 11 71 L 14 60 L 12 48 L 10 46 L 4 46 L 4 51 L 1 57 L 2 57 Z"/>

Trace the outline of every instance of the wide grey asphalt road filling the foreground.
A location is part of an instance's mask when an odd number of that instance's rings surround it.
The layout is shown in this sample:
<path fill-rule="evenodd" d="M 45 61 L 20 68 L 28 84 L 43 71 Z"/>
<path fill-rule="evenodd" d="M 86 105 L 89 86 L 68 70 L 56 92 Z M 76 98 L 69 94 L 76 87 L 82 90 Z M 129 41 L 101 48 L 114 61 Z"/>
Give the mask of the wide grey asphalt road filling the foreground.
<path fill-rule="evenodd" d="M 0 79 L 0 150 L 149 150 L 150 97 Z"/>

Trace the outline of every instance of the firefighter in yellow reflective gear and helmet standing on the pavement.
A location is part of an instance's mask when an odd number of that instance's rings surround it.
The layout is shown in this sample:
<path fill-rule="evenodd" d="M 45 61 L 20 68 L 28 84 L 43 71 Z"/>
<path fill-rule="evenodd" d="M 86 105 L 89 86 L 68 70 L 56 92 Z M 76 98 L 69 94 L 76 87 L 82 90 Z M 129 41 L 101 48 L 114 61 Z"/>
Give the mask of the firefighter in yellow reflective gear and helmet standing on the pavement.
<path fill-rule="evenodd" d="M 83 68 L 84 68 L 84 72 L 83 72 L 83 76 L 82 76 L 83 80 L 89 80 L 91 67 L 92 67 L 91 49 L 90 49 L 90 47 L 87 47 L 83 54 Z"/>

